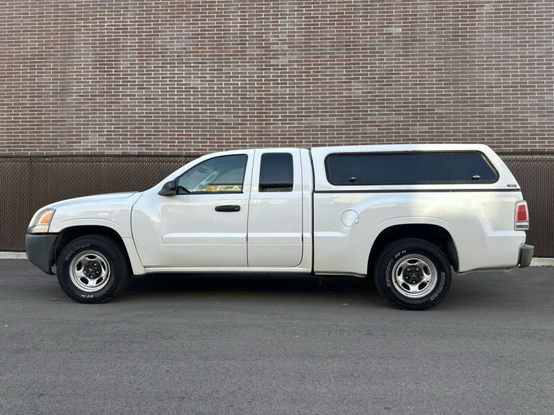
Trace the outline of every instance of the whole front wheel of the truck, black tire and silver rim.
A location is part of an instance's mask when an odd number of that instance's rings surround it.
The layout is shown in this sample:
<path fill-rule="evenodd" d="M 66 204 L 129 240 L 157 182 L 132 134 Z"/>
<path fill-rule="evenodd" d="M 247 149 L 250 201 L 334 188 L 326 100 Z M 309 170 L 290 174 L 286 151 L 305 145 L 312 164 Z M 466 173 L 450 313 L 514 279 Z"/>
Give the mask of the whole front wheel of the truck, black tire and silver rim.
<path fill-rule="evenodd" d="M 69 242 L 56 263 L 57 281 L 71 299 L 107 302 L 129 283 L 129 264 L 119 243 L 100 234 Z"/>

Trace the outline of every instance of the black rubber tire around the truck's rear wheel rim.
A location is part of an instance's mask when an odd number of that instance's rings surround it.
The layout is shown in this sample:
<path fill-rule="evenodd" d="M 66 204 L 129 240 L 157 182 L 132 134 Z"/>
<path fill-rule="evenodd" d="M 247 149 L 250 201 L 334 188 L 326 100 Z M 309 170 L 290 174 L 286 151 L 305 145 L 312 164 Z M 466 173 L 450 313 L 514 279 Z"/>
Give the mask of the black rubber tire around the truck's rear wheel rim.
<path fill-rule="evenodd" d="M 429 260 L 431 271 L 429 271 L 429 267 L 425 268 L 425 266 L 419 267 L 427 269 L 425 271 L 413 271 L 418 267 L 411 268 L 408 260 L 414 257 Z M 415 260 L 411 261 L 415 263 Z M 402 267 L 402 264 L 407 265 Z M 413 277 L 409 282 L 415 282 L 415 284 L 399 282 L 398 279 L 394 279 L 393 271 L 400 275 L 405 275 L 404 271 L 407 271 L 408 278 Z M 428 285 L 425 282 L 418 282 L 426 273 L 432 275 L 434 271 L 436 277 L 434 280 L 431 279 Z M 402 277 L 403 279 L 404 277 Z M 374 281 L 379 293 L 391 304 L 408 310 L 427 310 L 436 306 L 446 297 L 452 284 L 452 268 L 444 252 L 434 243 L 418 238 L 398 239 L 388 244 L 379 254 L 375 263 Z M 420 290 L 421 293 L 406 293 L 410 287 Z M 409 297 L 409 295 L 421 295 L 421 297 Z"/>

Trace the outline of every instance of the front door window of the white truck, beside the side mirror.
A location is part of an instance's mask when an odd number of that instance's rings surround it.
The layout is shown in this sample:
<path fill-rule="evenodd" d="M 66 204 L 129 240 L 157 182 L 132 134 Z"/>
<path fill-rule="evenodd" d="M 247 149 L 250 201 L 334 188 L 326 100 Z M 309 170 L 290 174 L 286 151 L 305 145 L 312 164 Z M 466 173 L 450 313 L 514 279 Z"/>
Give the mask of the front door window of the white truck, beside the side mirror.
<path fill-rule="evenodd" d="M 203 161 L 179 177 L 177 194 L 240 193 L 247 160 L 246 154 L 233 154 Z"/>

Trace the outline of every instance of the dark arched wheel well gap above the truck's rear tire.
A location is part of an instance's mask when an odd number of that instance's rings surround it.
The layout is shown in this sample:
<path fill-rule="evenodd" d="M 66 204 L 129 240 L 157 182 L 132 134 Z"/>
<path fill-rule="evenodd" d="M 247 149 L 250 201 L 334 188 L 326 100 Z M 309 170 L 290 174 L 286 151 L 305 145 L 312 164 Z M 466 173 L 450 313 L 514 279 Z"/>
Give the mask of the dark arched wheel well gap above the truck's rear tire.
<path fill-rule="evenodd" d="M 379 252 L 388 243 L 401 238 L 420 238 L 434 243 L 445 252 L 454 270 L 458 271 L 458 252 L 456 252 L 452 235 L 445 228 L 438 225 L 414 223 L 410 225 L 394 225 L 382 230 L 377 239 L 375 239 L 375 242 L 373 242 L 369 253 L 368 275 L 373 274 L 373 264 L 375 264 Z"/>

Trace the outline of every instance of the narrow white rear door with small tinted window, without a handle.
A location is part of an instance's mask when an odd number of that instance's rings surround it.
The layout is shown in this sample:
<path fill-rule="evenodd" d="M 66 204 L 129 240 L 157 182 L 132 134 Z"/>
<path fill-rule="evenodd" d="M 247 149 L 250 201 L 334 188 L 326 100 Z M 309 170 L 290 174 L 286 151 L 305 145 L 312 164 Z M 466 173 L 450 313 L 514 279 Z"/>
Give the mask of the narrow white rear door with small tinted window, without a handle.
<path fill-rule="evenodd" d="M 301 263 L 302 198 L 300 150 L 256 150 L 248 216 L 248 266 L 294 267 Z"/>

